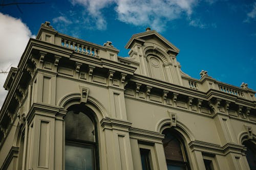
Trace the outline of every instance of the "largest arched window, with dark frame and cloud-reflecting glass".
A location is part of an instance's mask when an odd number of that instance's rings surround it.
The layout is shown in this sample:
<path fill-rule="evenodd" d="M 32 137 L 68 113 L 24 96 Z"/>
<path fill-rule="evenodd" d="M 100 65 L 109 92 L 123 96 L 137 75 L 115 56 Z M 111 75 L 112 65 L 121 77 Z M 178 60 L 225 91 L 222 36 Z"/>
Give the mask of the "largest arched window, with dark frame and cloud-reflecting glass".
<path fill-rule="evenodd" d="M 97 168 L 97 129 L 92 111 L 77 105 L 65 117 L 65 169 Z"/>

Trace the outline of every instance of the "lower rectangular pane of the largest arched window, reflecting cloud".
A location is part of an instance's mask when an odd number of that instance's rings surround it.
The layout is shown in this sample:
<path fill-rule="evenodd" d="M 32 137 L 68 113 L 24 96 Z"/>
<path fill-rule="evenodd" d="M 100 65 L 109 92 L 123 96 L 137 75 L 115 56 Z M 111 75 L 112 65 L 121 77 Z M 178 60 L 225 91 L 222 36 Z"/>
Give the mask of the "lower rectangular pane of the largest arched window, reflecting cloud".
<path fill-rule="evenodd" d="M 94 148 L 89 145 L 65 146 L 65 170 L 94 170 Z"/>

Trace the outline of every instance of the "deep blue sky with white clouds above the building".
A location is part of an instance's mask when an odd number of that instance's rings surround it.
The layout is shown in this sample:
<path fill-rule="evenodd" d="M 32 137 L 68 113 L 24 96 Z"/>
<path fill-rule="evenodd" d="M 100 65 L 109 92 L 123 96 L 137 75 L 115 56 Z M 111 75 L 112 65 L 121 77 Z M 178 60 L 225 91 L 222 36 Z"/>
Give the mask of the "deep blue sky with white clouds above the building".
<path fill-rule="evenodd" d="M 200 79 L 207 70 L 218 81 L 256 90 L 256 0 L 0 0 L 0 70 L 17 67 L 45 21 L 76 38 L 112 41 L 121 57 L 129 56 L 131 36 L 150 27 L 180 49 L 177 60 L 189 76 Z M 0 74 L 0 107 L 6 77 Z"/>

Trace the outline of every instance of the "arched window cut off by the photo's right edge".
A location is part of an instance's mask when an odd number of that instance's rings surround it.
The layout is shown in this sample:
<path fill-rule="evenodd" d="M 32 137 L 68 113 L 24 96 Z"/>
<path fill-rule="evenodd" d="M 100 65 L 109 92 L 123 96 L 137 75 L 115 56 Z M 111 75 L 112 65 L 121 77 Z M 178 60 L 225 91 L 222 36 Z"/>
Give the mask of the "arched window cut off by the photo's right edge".
<path fill-rule="evenodd" d="M 243 142 L 246 147 L 246 159 L 251 170 L 256 170 L 256 145 L 250 140 Z"/>

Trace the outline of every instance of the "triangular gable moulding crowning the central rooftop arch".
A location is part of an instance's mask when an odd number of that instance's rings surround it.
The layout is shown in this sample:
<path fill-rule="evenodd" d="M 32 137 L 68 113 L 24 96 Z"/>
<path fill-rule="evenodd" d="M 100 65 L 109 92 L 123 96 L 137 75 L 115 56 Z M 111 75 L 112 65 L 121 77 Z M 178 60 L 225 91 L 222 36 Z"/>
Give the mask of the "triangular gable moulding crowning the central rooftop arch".
<path fill-rule="evenodd" d="M 174 44 L 170 43 L 167 39 L 165 39 L 162 35 L 160 35 L 155 30 L 146 31 L 143 33 L 134 34 L 131 39 L 125 45 L 125 48 L 129 49 L 133 45 L 134 42 L 145 43 L 146 41 L 150 41 L 150 39 L 156 39 L 161 44 L 165 45 L 167 51 L 173 51 L 175 53 L 179 53 L 179 48 L 177 48 Z"/>

